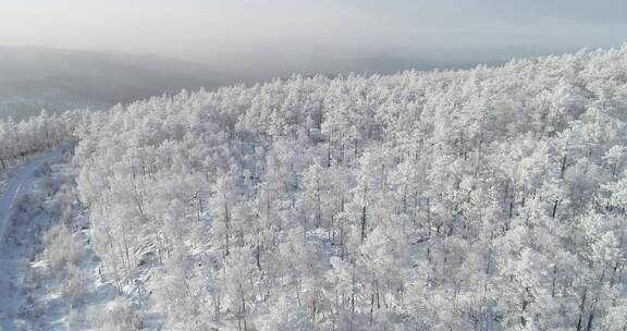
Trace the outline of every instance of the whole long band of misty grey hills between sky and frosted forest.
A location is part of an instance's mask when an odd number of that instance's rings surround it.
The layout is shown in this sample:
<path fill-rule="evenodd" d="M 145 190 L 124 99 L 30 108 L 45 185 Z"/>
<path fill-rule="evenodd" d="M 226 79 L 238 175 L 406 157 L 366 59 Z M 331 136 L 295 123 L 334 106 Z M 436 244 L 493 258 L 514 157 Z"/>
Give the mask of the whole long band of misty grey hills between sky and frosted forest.
<path fill-rule="evenodd" d="M 25 119 L 41 109 L 108 109 L 181 89 L 207 90 L 254 84 L 293 73 L 327 76 L 393 74 L 405 70 L 469 69 L 518 57 L 569 50 L 539 47 L 478 47 L 417 53 L 332 54 L 303 58 L 247 56 L 197 62 L 152 54 L 0 47 L 0 118 Z M 571 50 L 570 50 L 571 51 Z"/>

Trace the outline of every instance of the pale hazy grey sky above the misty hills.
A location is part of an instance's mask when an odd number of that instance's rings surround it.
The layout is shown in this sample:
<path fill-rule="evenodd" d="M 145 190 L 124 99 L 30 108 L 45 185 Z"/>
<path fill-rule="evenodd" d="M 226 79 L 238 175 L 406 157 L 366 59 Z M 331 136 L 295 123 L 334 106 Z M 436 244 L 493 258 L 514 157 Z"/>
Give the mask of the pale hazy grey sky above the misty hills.
<path fill-rule="evenodd" d="M 208 62 L 626 40 L 627 0 L 0 0 L 0 45 Z"/>

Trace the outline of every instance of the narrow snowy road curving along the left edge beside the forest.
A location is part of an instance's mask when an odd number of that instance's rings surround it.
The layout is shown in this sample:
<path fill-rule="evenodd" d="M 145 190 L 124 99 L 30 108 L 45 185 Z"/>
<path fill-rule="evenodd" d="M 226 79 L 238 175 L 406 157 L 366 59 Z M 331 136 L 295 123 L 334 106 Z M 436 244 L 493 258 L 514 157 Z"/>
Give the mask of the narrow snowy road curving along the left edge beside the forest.
<path fill-rule="evenodd" d="M 30 182 L 33 182 L 33 174 L 37 169 L 41 168 L 44 163 L 53 160 L 60 155 L 61 152 L 59 151 L 45 152 L 27 166 L 24 166 L 17 173 L 13 175 L 13 177 L 11 177 L 11 180 L 9 180 L 9 184 L 5 186 L 5 189 L 2 193 L 2 197 L 0 197 L 0 246 L 4 238 L 4 232 L 9 226 L 9 219 L 12 211 L 11 209 L 22 193 L 22 187 L 26 187 L 30 184 Z"/>

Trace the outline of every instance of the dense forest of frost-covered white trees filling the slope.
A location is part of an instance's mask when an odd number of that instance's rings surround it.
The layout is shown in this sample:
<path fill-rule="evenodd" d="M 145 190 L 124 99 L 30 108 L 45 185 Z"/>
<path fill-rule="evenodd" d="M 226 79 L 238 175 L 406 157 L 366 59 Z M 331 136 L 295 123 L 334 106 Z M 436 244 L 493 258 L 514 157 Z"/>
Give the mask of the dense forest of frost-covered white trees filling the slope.
<path fill-rule="evenodd" d="M 624 331 L 626 121 L 623 47 L 184 90 L 0 150 L 74 130 L 88 222 L 37 259 L 90 329 Z"/>

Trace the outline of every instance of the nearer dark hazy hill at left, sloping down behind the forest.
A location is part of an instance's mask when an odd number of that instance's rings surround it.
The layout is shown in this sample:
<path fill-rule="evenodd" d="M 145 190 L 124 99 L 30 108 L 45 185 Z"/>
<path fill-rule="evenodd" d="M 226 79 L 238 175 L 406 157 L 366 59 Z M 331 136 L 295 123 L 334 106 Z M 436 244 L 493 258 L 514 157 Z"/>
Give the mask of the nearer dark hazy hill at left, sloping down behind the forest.
<path fill-rule="evenodd" d="M 237 83 L 201 64 L 147 54 L 0 47 L 0 118 L 108 108 L 182 88 Z"/>

